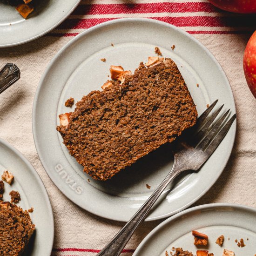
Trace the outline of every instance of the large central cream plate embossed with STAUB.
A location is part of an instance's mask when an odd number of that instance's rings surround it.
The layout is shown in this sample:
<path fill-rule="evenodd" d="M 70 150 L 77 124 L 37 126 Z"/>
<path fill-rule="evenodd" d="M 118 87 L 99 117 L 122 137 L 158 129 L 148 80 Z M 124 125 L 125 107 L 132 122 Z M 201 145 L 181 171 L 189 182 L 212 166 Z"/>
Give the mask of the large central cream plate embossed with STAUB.
<path fill-rule="evenodd" d="M 176 46 L 174 51 L 172 45 Z M 74 203 L 109 219 L 127 221 L 157 188 L 173 164 L 170 147 L 162 146 L 109 181 L 95 181 L 83 173 L 62 144 L 56 131 L 58 115 L 71 111 L 64 106 L 70 96 L 79 101 L 92 90 L 101 89 L 108 80 L 110 65 L 134 71 L 140 61 L 155 55 L 155 46 L 177 63 L 199 114 L 216 99 L 219 105 L 225 103 L 223 111 L 231 108 L 231 114 L 235 113 L 229 81 L 209 50 L 181 29 L 150 19 L 110 21 L 75 37 L 51 61 L 35 95 L 34 141 L 47 174 Z M 171 216 L 204 195 L 222 173 L 235 134 L 236 122 L 200 172 L 178 178 L 171 191 L 168 187 L 147 220 Z"/>

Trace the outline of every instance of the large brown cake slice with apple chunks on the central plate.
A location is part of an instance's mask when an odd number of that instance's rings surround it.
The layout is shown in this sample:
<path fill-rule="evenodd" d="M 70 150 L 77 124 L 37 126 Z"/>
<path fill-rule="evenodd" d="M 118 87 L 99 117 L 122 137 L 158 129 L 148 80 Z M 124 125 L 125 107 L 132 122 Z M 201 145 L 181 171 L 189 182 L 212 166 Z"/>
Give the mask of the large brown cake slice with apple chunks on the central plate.
<path fill-rule="evenodd" d="M 74 112 L 60 115 L 63 143 L 94 179 L 111 178 L 196 122 L 195 104 L 175 62 L 150 58 L 134 74 L 125 71 L 120 81 L 83 96 Z"/>

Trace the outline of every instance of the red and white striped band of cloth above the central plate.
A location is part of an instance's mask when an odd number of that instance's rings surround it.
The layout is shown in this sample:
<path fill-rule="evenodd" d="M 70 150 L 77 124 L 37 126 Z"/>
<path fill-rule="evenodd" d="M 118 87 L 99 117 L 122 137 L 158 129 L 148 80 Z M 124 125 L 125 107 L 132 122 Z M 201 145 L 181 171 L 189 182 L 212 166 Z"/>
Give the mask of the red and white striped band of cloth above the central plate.
<path fill-rule="evenodd" d="M 255 28 L 256 16 L 227 13 L 208 0 L 81 0 L 52 36 L 75 36 L 108 20 L 144 17 L 181 27 L 190 34 L 242 34 Z"/>

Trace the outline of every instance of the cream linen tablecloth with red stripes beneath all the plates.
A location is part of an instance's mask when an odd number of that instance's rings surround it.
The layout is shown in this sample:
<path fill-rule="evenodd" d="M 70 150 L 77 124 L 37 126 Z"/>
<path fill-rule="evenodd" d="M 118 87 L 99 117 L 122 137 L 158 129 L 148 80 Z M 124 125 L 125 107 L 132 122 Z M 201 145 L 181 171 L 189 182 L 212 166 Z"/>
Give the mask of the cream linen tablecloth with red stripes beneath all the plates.
<path fill-rule="evenodd" d="M 207 0 L 82 0 L 66 21 L 25 45 L 0 49 L 0 65 L 13 62 L 21 78 L 1 94 L 0 137 L 20 150 L 44 182 L 54 212 L 53 256 L 93 256 L 124 223 L 94 216 L 69 201 L 42 167 L 32 135 L 32 105 L 41 75 L 69 40 L 101 22 L 146 17 L 181 27 L 215 55 L 226 72 L 236 101 L 236 142 L 216 184 L 195 205 L 212 202 L 256 207 L 256 99 L 243 75 L 243 51 L 256 29 L 255 15 L 226 13 Z M 141 240 L 161 221 L 144 222 L 122 255 L 131 256 Z"/>

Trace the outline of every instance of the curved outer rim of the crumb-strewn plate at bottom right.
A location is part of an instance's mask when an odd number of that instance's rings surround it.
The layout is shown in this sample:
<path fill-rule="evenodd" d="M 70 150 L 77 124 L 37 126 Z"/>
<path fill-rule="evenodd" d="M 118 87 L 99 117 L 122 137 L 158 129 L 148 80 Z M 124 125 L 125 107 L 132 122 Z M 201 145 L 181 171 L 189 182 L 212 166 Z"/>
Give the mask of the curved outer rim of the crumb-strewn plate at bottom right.
<path fill-rule="evenodd" d="M 201 204 L 198 206 L 191 207 L 189 209 L 182 210 L 179 213 L 176 213 L 175 215 L 169 217 L 168 219 L 161 222 L 159 225 L 157 225 L 154 229 L 152 229 L 147 236 L 143 238 L 141 243 L 138 245 L 138 247 L 135 249 L 135 252 L 133 253 L 133 256 L 137 256 L 140 252 L 140 249 L 147 244 L 148 240 L 151 238 L 151 236 L 154 236 L 154 234 L 158 231 L 161 231 L 161 229 L 168 223 L 174 222 L 175 220 L 181 218 L 182 216 L 193 213 L 194 211 L 198 210 L 209 210 L 211 208 L 223 208 L 223 207 L 231 207 L 234 209 L 242 209 L 242 210 L 249 210 L 253 211 L 256 214 L 256 208 L 245 205 L 245 204 L 238 204 L 238 203 L 224 203 L 224 202 L 217 202 L 217 203 L 207 203 L 207 204 Z"/>

